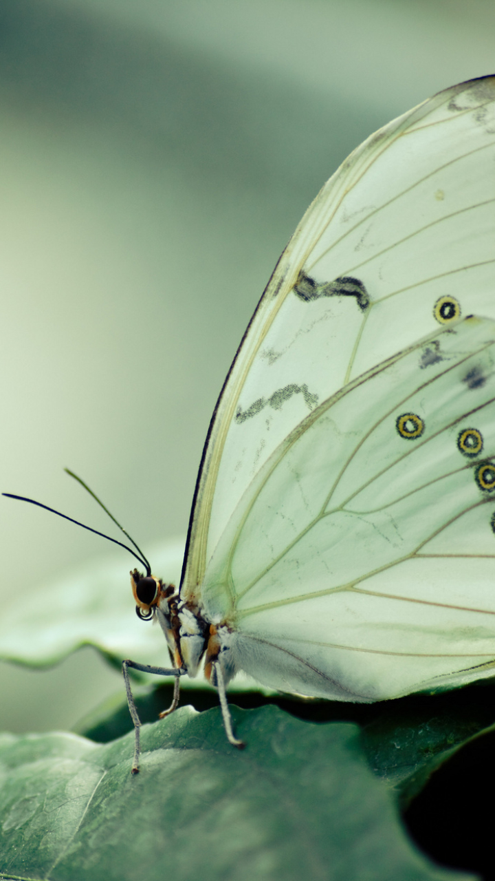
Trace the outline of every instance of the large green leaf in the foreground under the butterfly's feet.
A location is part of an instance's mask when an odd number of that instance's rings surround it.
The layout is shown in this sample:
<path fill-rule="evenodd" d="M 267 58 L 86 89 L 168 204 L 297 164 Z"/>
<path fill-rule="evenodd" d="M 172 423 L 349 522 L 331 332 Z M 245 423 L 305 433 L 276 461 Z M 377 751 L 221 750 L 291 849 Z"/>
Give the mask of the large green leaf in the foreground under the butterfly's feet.
<path fill-rule="evenodd" d="M 133 738 L 0 738 L 3 877 L 50 881 L 423 881 L 470 876 L 410 843 L 367 766 L 358 727 L 300 722 L 277 707 L 236 711 L 245 751 L 218 710 L 186 707 Z"/>

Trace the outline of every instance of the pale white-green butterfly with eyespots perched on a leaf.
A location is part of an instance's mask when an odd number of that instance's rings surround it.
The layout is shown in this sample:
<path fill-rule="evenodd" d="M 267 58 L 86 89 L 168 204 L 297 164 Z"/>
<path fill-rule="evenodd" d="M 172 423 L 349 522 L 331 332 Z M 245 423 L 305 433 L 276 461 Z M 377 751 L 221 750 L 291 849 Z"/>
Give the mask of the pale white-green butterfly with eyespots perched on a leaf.
<path fill-rule="evenodd" d="M 361 144 L 281 255 L 211 419 L 178 590 L 131 573 L 172 667 L 373 701 L 495 665 L 495 77 Z"/>

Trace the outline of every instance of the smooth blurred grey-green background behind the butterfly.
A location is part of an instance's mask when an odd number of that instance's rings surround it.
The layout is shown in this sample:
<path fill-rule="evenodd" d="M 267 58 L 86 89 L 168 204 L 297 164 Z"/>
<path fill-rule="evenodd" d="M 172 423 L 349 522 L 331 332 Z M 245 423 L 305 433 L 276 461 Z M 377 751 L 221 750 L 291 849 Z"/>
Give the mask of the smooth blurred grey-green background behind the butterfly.
<path fill-rule="evenodd" d="M 495 72 L 494 36 L 491 0 L 3 0 L 0 488 L 108 530 L 67 465 L 144 551 L 185 534 L 218 391 L 307 205 L 373 130 Z M 19 617 L 112 554 L 29 506 L 0 517 Z M 122 688 L 89 648 L 0 673 L 14 731 Z"/>

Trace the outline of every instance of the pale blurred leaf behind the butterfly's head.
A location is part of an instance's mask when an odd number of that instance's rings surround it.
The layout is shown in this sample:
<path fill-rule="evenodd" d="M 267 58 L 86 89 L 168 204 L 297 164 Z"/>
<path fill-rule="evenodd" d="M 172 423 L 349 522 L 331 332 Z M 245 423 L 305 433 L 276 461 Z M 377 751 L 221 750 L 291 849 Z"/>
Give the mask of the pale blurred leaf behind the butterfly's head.
<path fill-rule="evenodd" d="M 184 556 L 182 539 L 165 542 L 151 549 L 152 571 L 166 583 L 178 584 Z M 168 661 L 166 643 L 159 626 L 140 621 L 135 614 L 129 580 L 134 563 L 126 559 L 90 560 L 85 566 L 69 569 L 56 580 L 33 587 L 40 603 L 26 603 L 19 615 L 18 599 L 2 609 L 0 618 L 0 660 L 29 667 L 45 667 L 62 661 L 81 646 L 93 646 L 108 663 L 121 668 L 123 658 L 158 666 Z M 130 561 L 130 566 L 129 566 Z M 156 681 L 142 673 L 129 671 L 137 680 Z M 173 677 L 170 677 L 170 682 Z M 211 690 L 199 677 L 182 680 L 182 687 Z M 256 687 L 245 674 L 236 678 L 240 690 Z M 267 689 L 261 690 L 270 694 Z"/>

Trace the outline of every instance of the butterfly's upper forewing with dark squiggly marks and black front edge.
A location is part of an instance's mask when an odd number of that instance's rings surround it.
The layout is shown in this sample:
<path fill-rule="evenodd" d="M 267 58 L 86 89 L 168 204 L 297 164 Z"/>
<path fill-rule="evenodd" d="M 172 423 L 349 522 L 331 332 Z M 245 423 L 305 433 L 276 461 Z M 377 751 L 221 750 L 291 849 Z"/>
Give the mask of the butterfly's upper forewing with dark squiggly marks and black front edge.
<path fill-rule="evenodd" d="M 390 122 L 321 189 L 211 420 L 181 596 L 200 597 L 240 498 L 308 413 L 439 322 L 495 316 L 494 155 L 495 78 L 482 78 Z"/>

